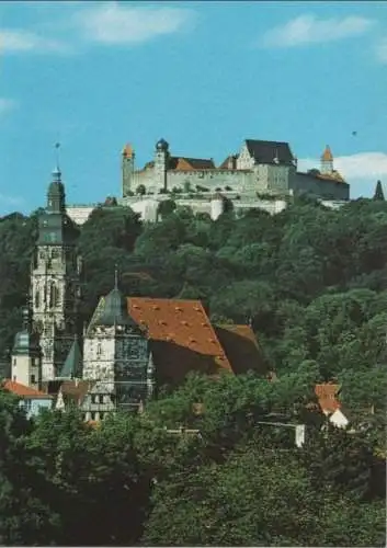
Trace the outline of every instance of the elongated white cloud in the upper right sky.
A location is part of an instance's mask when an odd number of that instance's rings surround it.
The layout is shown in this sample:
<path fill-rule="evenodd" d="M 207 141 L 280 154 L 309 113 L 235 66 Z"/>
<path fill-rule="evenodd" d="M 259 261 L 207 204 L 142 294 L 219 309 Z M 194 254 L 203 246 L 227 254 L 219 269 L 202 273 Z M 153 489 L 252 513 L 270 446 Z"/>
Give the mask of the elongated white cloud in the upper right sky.
<path fill-rule="evenodd" d="M 284 25 L 276 26 L 263 36 L 268 47 L 295 47 L 306 44 L 333 42 L 366 33 L 373 21 L 361 16 L 344 19 L 317 19 L 315 15 L 299 15 Z"/>

